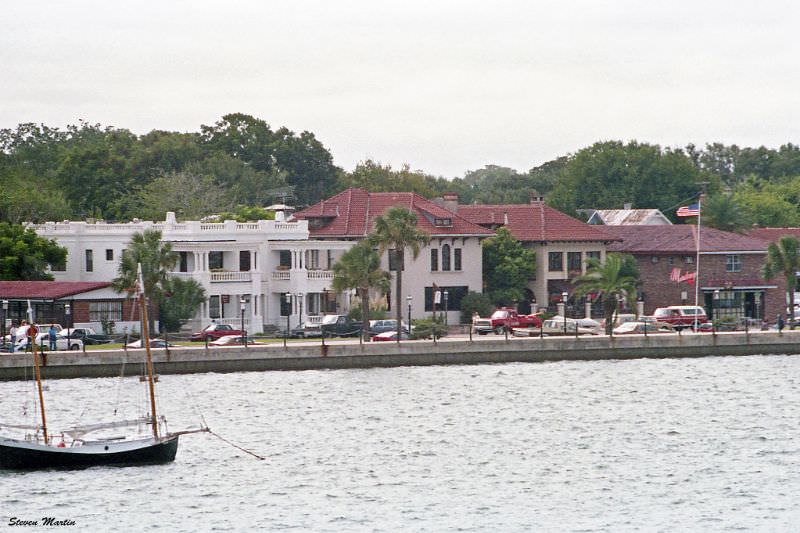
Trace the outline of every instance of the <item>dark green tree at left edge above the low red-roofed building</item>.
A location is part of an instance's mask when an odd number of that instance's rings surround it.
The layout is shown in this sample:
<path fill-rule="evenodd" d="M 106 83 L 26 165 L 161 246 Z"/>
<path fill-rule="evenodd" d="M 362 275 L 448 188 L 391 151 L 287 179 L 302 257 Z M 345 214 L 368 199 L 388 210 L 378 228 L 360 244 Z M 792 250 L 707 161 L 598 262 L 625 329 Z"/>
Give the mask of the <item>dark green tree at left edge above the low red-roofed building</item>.
<path fill-rule="evenodd" d="M 52 280 L 47 268 L 64 265 L 67 250 L 30 228 L 0 222 L 0 280 Z"/>

